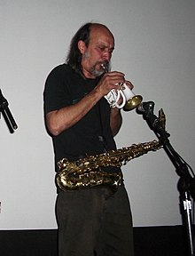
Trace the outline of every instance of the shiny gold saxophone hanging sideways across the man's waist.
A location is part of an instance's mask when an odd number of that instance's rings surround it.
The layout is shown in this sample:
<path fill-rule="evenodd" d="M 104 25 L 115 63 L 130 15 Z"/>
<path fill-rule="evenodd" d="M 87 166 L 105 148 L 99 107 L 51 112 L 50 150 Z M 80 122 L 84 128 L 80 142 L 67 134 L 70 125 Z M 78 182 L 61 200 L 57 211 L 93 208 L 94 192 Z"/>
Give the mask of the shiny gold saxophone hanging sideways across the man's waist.
<path fill-rule="evenodd" d="M 56 175 L 58 187 L 66 191 L 108 185 L 115 191 L 121 185 L 121 172 L 102 172 L 101 167 L 121 167 L 133 158 L 160 148 L 162 148 L 160 141 L 152 140 L 107 151 L 97 156 L 86 156 L 76 161 L 68 161 L 67 158 L 63 158 L 58 161 L 59 170 Z"/>

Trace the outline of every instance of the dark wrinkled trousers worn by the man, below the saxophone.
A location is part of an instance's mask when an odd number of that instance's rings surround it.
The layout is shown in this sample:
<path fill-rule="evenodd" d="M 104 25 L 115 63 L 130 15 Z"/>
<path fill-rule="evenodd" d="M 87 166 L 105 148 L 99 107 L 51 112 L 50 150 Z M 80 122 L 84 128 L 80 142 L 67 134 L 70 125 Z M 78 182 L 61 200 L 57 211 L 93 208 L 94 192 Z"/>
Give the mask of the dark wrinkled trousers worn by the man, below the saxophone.
<path fill-rule="evenodd" d="M 58 256 L 133 256 L 127 191 L 97 186 L 60 191 L 56 201 Z"/>

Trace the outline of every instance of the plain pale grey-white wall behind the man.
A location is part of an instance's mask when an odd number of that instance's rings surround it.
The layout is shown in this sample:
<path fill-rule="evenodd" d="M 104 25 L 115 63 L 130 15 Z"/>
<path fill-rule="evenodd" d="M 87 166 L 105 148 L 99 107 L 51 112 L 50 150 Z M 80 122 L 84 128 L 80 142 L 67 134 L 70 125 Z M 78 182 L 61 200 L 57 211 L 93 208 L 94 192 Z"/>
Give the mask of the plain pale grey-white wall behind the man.
<path fill-rule="evenodd" d="M 53 152 L 43 124 L 43 86 L 90 20 L 116 39 L 113 69 L 163 108 L 175 150 L 195 166 L 193 0 L 1 0 L 0 89 L 19 128 L 0 119 L 0 229 L 56 228 Z M 136 111 L 123 112 L 118 148 L 156 139 Z M 163 149 L 123 168 L 135 226 L 181 224 L 175 167 Z"/>

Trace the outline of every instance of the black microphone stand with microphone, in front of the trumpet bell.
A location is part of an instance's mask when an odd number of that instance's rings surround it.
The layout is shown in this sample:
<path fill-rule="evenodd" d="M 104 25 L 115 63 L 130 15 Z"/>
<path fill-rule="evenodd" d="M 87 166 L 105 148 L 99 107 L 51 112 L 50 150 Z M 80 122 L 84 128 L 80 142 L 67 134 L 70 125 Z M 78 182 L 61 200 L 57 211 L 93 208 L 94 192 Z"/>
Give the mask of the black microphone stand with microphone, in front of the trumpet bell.
<path fill-rule="evenodd" d="M 175 165 L 175 171 L 180 177 L 177 188 L 180 193 L 181 212 L 183 214 L 183 222 L 187 229 L 188 251 L 189 256 L 195 256 L 193 244 L 193 225 L 191 217 L 191 198 L 195 200 L 195 178 L 191 166 L 187 164 L 181 156 L 172 147 L 168 137 L 170 134 L 165 130 L 166 116 L 162 110 L 159 111 L 159 117 L 153 114 L 154 103 L 149 101 L 144 103 L 143 117 L 149 127 L 160 140 L 164 150 L 170 158 L 172 164 Z M 143 111 L 142 111 L 143 112 Z M 140 114 L 138 108 L 137 113 Z M 191 171 L 191 173 L 189 172 Z"/>

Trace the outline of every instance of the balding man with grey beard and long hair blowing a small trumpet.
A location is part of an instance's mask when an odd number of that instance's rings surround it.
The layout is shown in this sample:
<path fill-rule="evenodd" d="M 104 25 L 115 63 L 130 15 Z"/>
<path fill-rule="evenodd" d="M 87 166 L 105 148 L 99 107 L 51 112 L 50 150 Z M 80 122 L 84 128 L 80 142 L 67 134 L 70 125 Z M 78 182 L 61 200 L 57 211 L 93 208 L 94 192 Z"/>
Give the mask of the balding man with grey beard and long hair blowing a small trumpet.
<path fill-rule="evenodd" d="M 113 137 L 121 128 L 121 110 L 110 108 L 105 95 L 121 90 L 121 84 L 130 89 L 133 85 L 122 72 L 105 72 L 113 50 L 111 31 L 99 23 L 86 23 L 72 39 L 66 63 L 53 68 L 46 79 L 44 113 L 57 172 L 65 157 L 71 161 L 116 149 Z M 98 167 L 99 172 L 122 177 L 118 166 Z M 122 178 L 119 185 L 114 191 L 109 184 L 58 188 L 59 256 L 134 255 L 132 217 Z"/>

